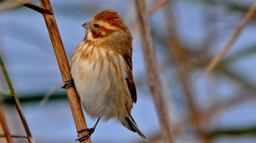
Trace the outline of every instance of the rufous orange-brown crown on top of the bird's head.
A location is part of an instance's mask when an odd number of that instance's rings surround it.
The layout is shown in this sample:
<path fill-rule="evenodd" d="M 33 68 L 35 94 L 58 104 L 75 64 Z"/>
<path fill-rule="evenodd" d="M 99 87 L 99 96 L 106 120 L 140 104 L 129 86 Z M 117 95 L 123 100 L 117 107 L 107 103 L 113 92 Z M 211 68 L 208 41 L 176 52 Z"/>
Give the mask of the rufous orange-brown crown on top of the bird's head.
<path fill-rule="evenodd" d="M 93 21 L 104 21 L 114 27 L 127 30 L 123 18 L 118 12 L 115 12 L 114 10 L 104 10 L 102 12 L 99 12 L 97 15 L 94 16 Z"/>

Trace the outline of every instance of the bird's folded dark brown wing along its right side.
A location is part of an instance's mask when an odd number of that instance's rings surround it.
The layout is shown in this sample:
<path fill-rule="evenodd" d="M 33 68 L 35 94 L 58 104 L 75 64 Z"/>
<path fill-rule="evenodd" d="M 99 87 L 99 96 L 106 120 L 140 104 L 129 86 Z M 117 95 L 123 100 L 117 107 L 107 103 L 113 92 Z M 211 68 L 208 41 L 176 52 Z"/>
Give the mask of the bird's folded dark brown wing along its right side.
<path fill-rule="evenodd" d="M 126 77 L 126 82 L 130 91 L 130 96 L 132 98 L 133 102 L 137 101 L 137 93 L 136 93 L 136 88 L 135 84 L 133 81 L 133 76 L 132 76 L 132 55 L 131 54 L 123 54 L 123 58 L 126 60 L 126 68 L 127 68 L 127 77 Z"/>

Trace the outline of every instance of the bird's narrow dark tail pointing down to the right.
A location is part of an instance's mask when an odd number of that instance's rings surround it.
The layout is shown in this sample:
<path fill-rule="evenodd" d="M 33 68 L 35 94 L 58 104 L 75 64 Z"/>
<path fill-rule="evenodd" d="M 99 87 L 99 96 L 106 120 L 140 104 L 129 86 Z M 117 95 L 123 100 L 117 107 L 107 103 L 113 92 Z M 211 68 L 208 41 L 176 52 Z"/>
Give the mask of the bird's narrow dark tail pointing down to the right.
<path fill-rule="evenodd" d="M 138 128 L 138 126 L 137 126 L 136 122 L 133 120 L 132 116 L 123 118 L 121 120 L 121 122 L 124 125 L 124 127 L 128 128 L 131 131 L 138 133 L 138 135 L 140 135 L 145 141 L 148 141 L 146 136 Z"/>

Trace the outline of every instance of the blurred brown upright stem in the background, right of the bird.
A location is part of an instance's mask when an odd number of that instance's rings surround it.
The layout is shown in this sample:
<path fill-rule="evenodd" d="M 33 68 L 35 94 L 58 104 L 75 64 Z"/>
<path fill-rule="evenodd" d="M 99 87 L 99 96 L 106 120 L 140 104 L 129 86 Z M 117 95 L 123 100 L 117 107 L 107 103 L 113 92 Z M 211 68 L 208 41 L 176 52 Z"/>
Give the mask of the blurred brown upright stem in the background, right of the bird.
<path fill-rule="evenodd" d="M 196 126 L 196 131 L 205 143 L 210 142 L 210 138 L 201 129 L 201 115 L 197 110 L 196 104 L 193 98 L 193 90 L 191 90 L 190 85 L 188 85 L 188 67 L 190 67 L 189 62 L 187 62 L 186 53 L 181 48 L 180 42 L 177 39 L 177 28 L 174 11 L 172 10 L 172 1 L 169 1 L 168 7 L 165 8 L 165 17 L 168 25 L 169 31 L 169 48 L 171 51 L 171 56 L 174 59 L 174 64 L 176 64 L 179 79 L 181 82 L 181 88 L 187 99 L 188 107 L 191 111 L 191 120 Z"/>

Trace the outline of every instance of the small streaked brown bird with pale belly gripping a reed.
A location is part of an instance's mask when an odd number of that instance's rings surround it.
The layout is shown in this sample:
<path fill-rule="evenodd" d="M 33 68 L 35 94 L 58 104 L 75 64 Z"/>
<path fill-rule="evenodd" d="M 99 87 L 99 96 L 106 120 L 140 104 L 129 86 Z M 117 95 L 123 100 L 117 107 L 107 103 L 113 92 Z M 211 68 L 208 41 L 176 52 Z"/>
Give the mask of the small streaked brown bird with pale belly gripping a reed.
<path fill-rule="evenodd" d="M 148 141 L 130 115 L 137 93 L 129 29 L 113 10 L 99 12 L 82 26 L 87 33 L 71 58 L 71 75 L 85 111 L 98 121 L 77 140 L 89 138 L 102 118 L 116 119 Z"/>

